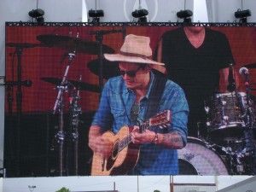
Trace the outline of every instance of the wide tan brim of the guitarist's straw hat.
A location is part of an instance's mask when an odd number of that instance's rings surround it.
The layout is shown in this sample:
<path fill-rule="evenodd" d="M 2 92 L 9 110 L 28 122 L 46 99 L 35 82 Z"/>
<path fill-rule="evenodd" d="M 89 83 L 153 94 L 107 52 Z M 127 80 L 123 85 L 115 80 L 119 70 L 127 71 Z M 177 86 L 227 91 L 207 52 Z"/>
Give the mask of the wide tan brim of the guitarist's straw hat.
<path fill-rule="evenodd" d="M 154 64 L 164 66 L 164 63 L 149 60 L 148 58 L 142 58 L 137 56 L 128 56 L 120 54 L 104 54 L 105 58 L 108 61 L 125 61 L 125 62 L 136 62 L 136 63 L 145 63 L 145 64 Z"/>

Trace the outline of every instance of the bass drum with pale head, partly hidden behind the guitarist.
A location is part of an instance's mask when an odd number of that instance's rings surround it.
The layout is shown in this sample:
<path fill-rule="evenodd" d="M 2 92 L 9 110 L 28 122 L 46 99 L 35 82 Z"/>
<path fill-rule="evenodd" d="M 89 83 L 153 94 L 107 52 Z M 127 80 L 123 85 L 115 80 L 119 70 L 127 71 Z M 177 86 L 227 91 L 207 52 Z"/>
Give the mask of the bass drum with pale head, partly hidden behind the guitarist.
<path fill-rule="evenodd" d="M 223 158 L 210 144 L 188 137 L 185 148 L 177 150 L 179 175 L 229 175 Z"/>

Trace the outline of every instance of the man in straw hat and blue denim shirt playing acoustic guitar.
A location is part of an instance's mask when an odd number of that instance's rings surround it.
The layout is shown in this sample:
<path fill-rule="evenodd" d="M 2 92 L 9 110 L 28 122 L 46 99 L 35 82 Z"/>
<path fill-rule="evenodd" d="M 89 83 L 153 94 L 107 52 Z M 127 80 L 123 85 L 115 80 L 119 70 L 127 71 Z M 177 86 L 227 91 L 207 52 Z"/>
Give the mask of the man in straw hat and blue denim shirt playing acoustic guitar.
<path fill-rule="evenodd" d="M 164 64 L 151 60 L 149 43 L 148 37 L 128 35 L 119 54 L 104 54 L 119 61 L 120 76 L 104 85 L 90 126 L 91 175 L 178 174 L 189 106 L 182 88 L 154 71 Z"/>

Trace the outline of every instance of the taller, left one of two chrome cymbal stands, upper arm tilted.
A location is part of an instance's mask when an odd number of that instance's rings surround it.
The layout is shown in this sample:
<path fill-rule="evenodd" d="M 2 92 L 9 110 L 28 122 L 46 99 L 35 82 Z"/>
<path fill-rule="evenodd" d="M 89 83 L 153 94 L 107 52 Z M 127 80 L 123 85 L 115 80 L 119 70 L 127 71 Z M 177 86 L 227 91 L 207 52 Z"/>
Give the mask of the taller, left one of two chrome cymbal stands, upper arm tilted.
<path fill-rule="evenodd" d="M 65 73 L 63 75 L 61 85 L 57 86 L 58 95 L 55 101 L 55 106 L 53 109 L 53 113 L 55 114 L 56 108 L 59 109 L 59 131 L 56 135 L 58 144 L 59 144 L 59 174 L 60 176 L 63 176 L 63 159 L 64 159 L 64 141 L 65 141 L 65 132 L 63 130 L 64 127 L 64 121 L 63 121 L 63 92 L 67 91 L 67 73 L 68 69 L 71 65 L 71 61 L 73 60 L 73 57 L 75 56 L 75 49 L 73 53 L 68 54 L 68 63 L 65 70 Z"/>

